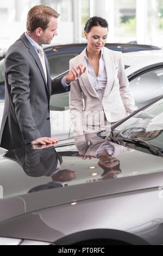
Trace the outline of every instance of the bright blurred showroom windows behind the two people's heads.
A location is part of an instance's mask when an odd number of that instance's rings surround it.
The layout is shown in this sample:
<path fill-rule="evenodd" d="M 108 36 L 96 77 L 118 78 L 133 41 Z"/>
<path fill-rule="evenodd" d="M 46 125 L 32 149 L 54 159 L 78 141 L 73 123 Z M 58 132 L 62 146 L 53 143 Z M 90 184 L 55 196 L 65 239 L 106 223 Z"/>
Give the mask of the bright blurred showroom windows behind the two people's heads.
<path fill-rule="evenodd" d="M 0 1 L 0 49 L 7 50 L 26 31 L 28 11 L 37 4 L 60 13 L 52 45 L 86 42 L 86 21 L 101 16 L 109 22 L 107 42 L 162 46 L 162 0 L 5 0 Z"/>

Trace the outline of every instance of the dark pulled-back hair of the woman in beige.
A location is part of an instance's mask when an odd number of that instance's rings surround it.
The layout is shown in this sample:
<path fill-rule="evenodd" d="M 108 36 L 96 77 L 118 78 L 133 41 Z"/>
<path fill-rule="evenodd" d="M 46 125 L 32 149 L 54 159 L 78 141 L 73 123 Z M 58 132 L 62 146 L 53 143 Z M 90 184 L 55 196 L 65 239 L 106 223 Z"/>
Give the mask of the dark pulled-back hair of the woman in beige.
<path fill-rule="evenodd" d="M 101 18 L 101 17 L 91 17 L 85 24 L 85 28 L 84 28 L 84 31 L 86 33 L 89 33 L 92 29 L 92 27 L 97 27 L 97 26 L 101 26 L 103 28 L 108 28 L 109 25 L 108 25 L 108 22 Z"/>

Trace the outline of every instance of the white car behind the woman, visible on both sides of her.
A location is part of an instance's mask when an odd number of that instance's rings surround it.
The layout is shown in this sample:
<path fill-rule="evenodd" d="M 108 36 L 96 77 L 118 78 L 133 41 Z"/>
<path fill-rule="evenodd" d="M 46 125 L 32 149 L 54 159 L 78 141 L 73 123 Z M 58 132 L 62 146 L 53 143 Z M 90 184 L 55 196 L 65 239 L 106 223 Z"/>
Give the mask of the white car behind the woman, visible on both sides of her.
<path fill-rule="evenodd" d="M 130 82 L 130 89 L 137 107 L 146 106 L 163 95 L 162 50 L 123 53 L 123 58 L 126 66 L 126 74 Z M 61 76 L 67 73 L 68 71 Z M 51 96 L 50 108 L 57 110 L 56 112 L 51 112 L 51 124 L 52 129 L 54 129 L 53 133 L 58 138 L 72 136 L 68 106 L 68 93 Z M 60 124 L 60 128 L 65 127 L 65 130 L 57 129 L 56 124 L 58 123 Z M 70 130 L 68 130 L 68 126 Z M 58 134 L 58 130 L 60 134 Z"/>

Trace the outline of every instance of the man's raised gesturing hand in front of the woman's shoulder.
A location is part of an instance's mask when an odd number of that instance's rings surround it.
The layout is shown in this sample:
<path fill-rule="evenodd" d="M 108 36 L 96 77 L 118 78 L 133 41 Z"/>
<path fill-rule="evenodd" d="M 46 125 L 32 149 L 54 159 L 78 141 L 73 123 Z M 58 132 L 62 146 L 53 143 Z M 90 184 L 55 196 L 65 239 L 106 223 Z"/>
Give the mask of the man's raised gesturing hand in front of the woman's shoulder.
<path fill-rule="evenodd" d="M 75 68 L 73 66 L 73 68 L 70 70 L 70 72 L 68 73 L 68 75 L 65 77 L 65 82 L 68 84 L 74 80 L 78 80 L 80 76 L 82 76 L 82 74 L 85 72 L 86 70 L 86 66 L 84 69 L 82 69 L 83 64 L 80 64 L 79 66 L 77 66 L 77 68 Z"/>

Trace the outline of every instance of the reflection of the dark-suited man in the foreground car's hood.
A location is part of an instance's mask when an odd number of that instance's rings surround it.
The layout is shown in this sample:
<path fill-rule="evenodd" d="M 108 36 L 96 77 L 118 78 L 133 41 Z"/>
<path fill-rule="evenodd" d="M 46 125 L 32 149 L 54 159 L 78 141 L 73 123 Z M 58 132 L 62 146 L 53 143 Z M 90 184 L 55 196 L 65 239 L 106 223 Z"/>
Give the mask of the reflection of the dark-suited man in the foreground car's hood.
<path fill-rule="evenodd" d="M 8 151 L 5 157 L 18 162 L 28 176 L 50 176 L 52 182 L 65 182 L 76 179 L 76 172 L 61 170 L 62 156 L 54 147 L 31 145 L 25 148 Z M 44 147 L 44 148 L 43 148 Z M 63 153 L 64 154 L 64 153 Z M 70 153 L 71 154 L 71 153 Z"/>

